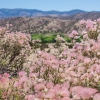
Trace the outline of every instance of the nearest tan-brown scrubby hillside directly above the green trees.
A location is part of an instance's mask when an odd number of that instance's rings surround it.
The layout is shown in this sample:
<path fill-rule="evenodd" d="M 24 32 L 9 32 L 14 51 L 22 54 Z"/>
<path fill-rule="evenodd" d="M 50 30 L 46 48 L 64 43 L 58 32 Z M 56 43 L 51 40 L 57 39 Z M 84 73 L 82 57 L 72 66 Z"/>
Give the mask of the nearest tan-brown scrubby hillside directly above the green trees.
<path fill-rule="evenodd" d="M 12 24 L 10 31 L 22 31 L 25 33 L 47 33 L 61 32 L 67 33 L 73 30 L 77 21 L 63 20 L 54 17 L 38 17 L 38 18 L 7 18 L 0 20 L 0 26 L 5 26 L 6 23 Z"/>

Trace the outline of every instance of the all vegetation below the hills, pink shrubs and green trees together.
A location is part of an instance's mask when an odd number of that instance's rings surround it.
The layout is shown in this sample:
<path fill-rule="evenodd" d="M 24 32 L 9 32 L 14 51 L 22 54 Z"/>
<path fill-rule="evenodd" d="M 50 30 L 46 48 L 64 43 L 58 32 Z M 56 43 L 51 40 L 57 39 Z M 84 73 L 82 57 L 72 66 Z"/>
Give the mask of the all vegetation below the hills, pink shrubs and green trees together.
<path fill-rule="evenodd" d="M 100 19 L 81 20 L 80 27 L 81 32 L 73 30 L 68 37 L 32 38 L 1 27 L 0 100 L 100 100 Z M 40 40 L 53 39 L 54 44 L 40 50 Z"/>

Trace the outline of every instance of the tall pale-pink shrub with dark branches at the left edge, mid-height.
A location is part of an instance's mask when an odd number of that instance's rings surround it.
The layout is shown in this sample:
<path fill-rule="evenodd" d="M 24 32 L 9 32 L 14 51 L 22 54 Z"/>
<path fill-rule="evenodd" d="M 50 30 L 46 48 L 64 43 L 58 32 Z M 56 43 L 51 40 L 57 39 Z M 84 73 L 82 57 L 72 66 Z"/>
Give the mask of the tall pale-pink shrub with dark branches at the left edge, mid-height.
<path fill-rule="evenodd" d="M 30 35 L 0 28 L 0 73 L 17 72 L 30 52 Z"/>

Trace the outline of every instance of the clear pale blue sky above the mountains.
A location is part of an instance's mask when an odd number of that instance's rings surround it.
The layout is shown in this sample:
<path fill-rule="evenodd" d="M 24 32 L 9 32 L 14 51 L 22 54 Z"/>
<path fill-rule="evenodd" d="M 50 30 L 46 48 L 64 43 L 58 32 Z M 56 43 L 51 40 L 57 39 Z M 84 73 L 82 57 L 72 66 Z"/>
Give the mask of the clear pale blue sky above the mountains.
<path fill-rule="evenodd" d="M 0 8 L 100 11 L 100 0 L 0 0 Z"/>

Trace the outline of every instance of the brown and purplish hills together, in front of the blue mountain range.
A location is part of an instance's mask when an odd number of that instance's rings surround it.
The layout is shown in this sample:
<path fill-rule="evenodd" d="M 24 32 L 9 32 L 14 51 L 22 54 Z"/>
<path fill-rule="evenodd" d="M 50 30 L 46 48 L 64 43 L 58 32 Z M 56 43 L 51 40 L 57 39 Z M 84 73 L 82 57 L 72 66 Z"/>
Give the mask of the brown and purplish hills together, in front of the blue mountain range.
<path fill-rule="evenodd" d="M 74 11 L 71 13 L 74 13 Z M 55 17 L 10 17 L 0 19 L 0 26 L 5 26 L 9 22 L 9 24 L 13 25 L 13 27 L 10 27 L 10 31 L 21 31 L 25 33 L 70 33 L 73 29 L 78 30 L 76 25 L 79 20 L 95 20 L 97 18 L 100 18 L 100 12 L 86 12 Z"/>

